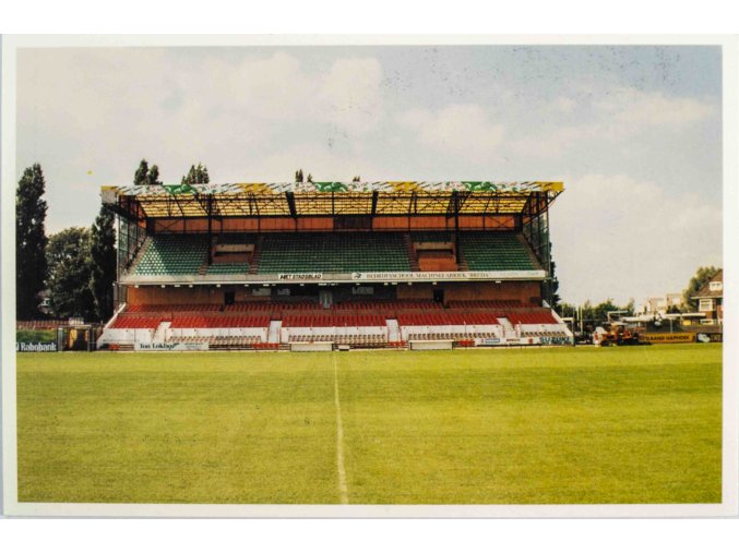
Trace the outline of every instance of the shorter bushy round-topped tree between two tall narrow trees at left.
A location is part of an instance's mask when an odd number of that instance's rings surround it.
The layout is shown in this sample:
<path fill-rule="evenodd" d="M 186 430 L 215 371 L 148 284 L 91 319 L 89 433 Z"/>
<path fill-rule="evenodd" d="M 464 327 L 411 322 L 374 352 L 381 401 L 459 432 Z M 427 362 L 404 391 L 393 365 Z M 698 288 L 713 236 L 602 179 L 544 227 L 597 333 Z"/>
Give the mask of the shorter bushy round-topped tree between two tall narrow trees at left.
<path fill-rule="evenodd" d="M 61 318 L 96 318 L 95 298 L 91 290 L 91 232 L 70 227 L 49 238 L 46 257 L 52 313 Z"/>

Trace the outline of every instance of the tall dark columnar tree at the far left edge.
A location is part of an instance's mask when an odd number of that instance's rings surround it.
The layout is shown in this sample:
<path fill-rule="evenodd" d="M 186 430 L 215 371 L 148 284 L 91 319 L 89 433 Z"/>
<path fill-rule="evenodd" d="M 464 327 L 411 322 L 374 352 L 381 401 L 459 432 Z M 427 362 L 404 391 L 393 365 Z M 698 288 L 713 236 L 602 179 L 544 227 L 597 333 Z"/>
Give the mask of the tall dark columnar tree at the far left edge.
<path fill-rule="evenodd" d="M 46 250 L 46 180 L 41 166 L 23 171 L 15 192 L 15 301 L 19 320 L 39 316 L 38 294 L 44 290 Z"/>

